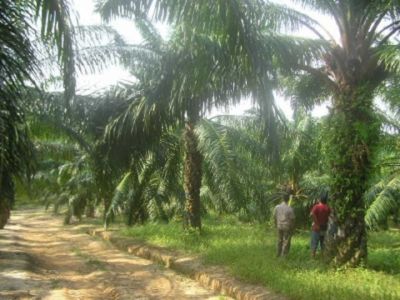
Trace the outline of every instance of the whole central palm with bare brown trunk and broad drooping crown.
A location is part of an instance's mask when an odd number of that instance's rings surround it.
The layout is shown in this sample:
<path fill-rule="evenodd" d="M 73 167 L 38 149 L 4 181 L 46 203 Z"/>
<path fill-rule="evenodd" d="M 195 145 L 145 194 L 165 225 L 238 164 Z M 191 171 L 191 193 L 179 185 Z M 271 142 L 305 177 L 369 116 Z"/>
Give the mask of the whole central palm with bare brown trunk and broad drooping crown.
<path fill-rule="evenodd" d="M 156 69 L 158 72 L 146 74 L 159 76 L 151 81 L 156 81 L 157 85 L 147 84 L 150 95 L 146 96 L 147 104 L 135 104 L 143 110 L 136 113 L 136 119 L 130 120 L 139 124 L 137 118 L 145 118 L 140 124 L 151 125 L 154 132 L 166 126 L 160 116 L 169 122 L 185 124 L 187 213 L 190 226 L 200 228 L 203 158 L 194 129 L 204 111 L 235 103 L 242 96 L 252 94 L 264 116 L 268 145 L 276 145 L 276 107 L 272 96 L 274 54 L 286 47 L 293 55 L 309 58 L 321 45 L 301 48 L 300 45 L 304 46 L 301 41 L 288 43 L 286 38 L 275 35 L 268 36 L 266 41 L 263 32 L 270 33 L 275 27 L 276 15 L 284 14 L 288 24 L 296 21 L 288 9 L 278 10 L 277 6 L 266 5 L 263 1 L 203 1 L 197 5 L 189 1 L 156 1 L 153 4 L 156 19 L 170 21 L 174 34 L 168 46 L 162 49 L 164 51 L 153 51 L 162 54 L 161 67 Z M 108 0 L 99 1 L 98 10 L 105 20 L 118 16 L 143 18 L 151 6 L 146 1 Z M 276 47 L 270 47 L 269 42 Z M 153 119 L 145 117 L 146 111 Z M 150 124 L 151 120 L 156 123 Z M 150 132 L 148 128 L 146 131 Z"/>

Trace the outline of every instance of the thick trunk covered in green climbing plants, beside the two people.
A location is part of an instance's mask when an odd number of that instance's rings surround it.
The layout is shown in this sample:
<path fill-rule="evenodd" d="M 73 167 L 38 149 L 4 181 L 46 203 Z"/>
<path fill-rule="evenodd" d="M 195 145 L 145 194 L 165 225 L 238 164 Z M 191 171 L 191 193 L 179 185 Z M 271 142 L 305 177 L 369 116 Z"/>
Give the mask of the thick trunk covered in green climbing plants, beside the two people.
<path fill-rule="evenodd" d="M 341 234 L 330 250 L 340 265 L 358 265 L 367 258 L 363 196 L 379 126 L 373 114 L 371 89 L 352 87 L 335 96 L 328 154 L 333 179 L 331 204 Z"/>

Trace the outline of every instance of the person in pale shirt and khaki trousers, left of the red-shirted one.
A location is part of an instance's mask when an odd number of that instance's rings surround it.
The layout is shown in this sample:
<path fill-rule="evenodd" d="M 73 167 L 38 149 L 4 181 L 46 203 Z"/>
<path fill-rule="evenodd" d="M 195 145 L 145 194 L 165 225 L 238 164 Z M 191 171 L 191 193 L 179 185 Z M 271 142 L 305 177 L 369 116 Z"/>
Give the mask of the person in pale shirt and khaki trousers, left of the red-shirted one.
<path fill-rule="evenodd" d="M 278 231 L 277 256 L 286 256 L 290 250 L 290 241 L 294 229 L 295 215 L 292 207 L 288 205 L 289 194 L 283 195 L 281 204 L 275 206 L 274 221 Z"/>

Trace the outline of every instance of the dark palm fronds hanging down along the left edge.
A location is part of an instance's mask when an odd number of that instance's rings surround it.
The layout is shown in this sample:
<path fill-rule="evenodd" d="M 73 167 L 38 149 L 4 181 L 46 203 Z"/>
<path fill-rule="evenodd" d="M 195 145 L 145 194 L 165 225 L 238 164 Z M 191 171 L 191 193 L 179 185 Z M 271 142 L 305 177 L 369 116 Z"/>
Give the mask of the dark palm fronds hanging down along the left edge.
<path fill-rule="evenodd" d="M 27 82 L 35 85 L 39 74 L 30 41 L 31 21 L 41 20 L 43 39 L 54 41 L 64 68 L 66 98 L 74 91 L 73 58 L 70 55 L 68 7 L 64 0 L 0 2 L 0 215 L 1 227 L 8 218 L 8 201 L 13 195 L 13 176 L 31 173 L 32 144 L 25 128 L 21 97 Z"/>

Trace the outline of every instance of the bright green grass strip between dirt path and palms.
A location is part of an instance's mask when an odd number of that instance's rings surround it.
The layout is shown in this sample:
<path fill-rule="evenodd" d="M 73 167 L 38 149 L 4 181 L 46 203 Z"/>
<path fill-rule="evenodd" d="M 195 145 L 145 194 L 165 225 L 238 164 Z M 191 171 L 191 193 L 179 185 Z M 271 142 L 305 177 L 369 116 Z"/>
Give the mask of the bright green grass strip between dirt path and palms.
<path fill-rule="evenodd" d="M 309 233 L 293 237 L 286 259 L 275 257 L 275 230 L 231 217 L 207 217 L 201 235 L 179 223 L 146 224 L 121 234 L 150 244 L 200 254 L 244 281 L 262 284 L 293 299 L 400 299 L 400 232 L 370 234 L 369 262 L 363 268 L 334 269 L 311 259 Z"/>

